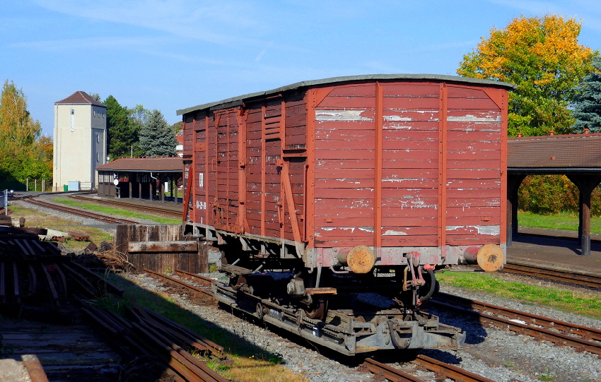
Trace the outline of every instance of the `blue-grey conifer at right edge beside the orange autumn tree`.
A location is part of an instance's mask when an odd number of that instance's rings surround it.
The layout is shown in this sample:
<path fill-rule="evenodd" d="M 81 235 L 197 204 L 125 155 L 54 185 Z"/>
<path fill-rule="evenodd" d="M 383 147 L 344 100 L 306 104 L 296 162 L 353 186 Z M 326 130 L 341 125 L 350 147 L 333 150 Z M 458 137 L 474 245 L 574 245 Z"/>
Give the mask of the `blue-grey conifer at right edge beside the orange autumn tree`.
<path fill-rule="evenodd" d="M 583 133 L 589 129 L 591 133 L 601 133 L 601 56 L 593 59 L 594 71 L 585 76 L 583 84 L 576 88 L 573 116 L 576 124 L 575 133 Z"/>

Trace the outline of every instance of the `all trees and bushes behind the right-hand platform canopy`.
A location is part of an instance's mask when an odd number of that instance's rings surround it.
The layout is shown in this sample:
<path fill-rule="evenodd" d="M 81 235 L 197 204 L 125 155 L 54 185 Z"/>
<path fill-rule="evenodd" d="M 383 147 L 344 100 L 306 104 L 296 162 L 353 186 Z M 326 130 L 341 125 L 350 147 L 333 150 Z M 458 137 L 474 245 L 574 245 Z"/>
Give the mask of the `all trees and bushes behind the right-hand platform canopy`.
<path fill-rule="evenodd" d="M 509 94 L 509 136 L 601 133 L 601 56 L 579 44 L 578 35 L 573 18 L 520 16 L 482 37 L 457 73 L 518 85 Z M 599 187 L 591 198 L 591 213 L 600 216 Z M 529 176 L 518 201 L 532 213 L 578 213 L 578 188 L 564 175 Z"/>

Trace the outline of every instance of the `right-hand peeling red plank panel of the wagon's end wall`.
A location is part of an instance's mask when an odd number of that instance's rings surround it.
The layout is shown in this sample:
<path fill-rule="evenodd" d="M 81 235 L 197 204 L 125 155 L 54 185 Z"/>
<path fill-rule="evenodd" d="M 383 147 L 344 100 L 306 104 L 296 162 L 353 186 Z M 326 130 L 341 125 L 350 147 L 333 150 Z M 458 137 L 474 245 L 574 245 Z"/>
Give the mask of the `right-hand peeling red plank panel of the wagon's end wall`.
<path fill-rule="evenodd" d="M 501 92 L 448 86 L 447 244 L 502 244 L 506 101 Z"/>

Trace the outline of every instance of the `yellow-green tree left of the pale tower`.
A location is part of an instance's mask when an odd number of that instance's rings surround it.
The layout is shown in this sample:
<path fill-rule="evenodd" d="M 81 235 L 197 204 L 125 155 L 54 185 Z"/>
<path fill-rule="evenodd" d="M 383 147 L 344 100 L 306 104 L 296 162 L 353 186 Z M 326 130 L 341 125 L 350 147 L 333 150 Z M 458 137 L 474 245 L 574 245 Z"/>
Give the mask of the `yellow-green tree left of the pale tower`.
<path fill-rule="evenodd" d="M 52 179 L 52 140 L 27 109 L 27 97 L 6 80 L 0 95 L 0 188 L 18 188 L 25 179 Z"/>

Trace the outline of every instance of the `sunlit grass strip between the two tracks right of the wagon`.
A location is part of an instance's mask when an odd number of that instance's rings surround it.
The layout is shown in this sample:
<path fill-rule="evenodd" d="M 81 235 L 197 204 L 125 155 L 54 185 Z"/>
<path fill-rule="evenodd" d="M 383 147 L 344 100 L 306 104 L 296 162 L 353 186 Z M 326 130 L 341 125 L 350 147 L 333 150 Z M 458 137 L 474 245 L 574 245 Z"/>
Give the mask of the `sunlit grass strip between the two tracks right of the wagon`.
<path fill-rule="evenodd" d="M 525 285 L 502 280 L 494 273 L 445 272 L 437 274 L 436 279 L 443 285 L 489 292 L 507 299 L 543 304 L 561 311 L 601 319 L 601 297 L 585 291 L 572 292 Z"/>

